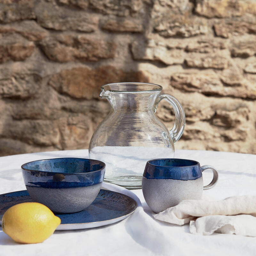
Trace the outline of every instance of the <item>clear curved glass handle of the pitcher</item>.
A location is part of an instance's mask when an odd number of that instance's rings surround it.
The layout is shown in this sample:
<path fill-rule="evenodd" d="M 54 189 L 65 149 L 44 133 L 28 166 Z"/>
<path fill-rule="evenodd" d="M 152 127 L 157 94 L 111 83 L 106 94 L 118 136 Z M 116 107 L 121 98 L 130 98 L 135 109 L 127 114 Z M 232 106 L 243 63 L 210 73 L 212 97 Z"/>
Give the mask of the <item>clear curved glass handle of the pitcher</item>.
<path fill-rule="evenodd" d="M 156 108 L 161 100 L 166 100 L 168 103 L 170 103 L 175 113 L 175 122 L 172 129 L 169 131 L 172 141 L 175 144 L 175 142 L 180 139 L 185 128 L 186 119 L 184 109 L 181 106 L 179 100 L 177 100 L 175 97 L 166 93 L 160 93 L 156 98 L 156 102 L 153 108 L 155 113 Z"/>

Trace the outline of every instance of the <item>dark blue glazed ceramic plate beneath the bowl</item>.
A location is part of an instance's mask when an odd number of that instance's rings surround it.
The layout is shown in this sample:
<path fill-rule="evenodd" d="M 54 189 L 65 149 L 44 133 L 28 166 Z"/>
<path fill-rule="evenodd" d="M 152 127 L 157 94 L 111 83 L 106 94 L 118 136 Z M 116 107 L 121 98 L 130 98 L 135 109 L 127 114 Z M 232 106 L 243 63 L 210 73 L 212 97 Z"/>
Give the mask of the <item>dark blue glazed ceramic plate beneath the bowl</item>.
<path fill-rule="evenodd" d="M 33 202 L 27 190 L 0 195 L 0 224 L 4 212 L 12 205 Z M 99 195 L 84 211 L 56 214 L 61 224 L 57 230 L 95 228 L 124 220 L 137 208 L 129 196 L 111 190 L 100 189 Z"/>

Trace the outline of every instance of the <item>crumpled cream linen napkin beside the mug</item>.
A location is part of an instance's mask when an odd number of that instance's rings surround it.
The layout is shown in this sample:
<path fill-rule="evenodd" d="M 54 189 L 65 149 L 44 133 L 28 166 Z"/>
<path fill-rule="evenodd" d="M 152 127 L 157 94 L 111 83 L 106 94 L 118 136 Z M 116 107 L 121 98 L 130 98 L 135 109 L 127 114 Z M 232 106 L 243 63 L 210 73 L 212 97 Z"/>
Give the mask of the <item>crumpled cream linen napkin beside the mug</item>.
<path fill-rule="evenodd" d="M 159 213 L 157 220 L 183 225 L 190 222 L 192 234 L 211 235 L 213 232 L 256 236 L 256 196 L 232 196 L 220 201 L 183 200 Z"/>

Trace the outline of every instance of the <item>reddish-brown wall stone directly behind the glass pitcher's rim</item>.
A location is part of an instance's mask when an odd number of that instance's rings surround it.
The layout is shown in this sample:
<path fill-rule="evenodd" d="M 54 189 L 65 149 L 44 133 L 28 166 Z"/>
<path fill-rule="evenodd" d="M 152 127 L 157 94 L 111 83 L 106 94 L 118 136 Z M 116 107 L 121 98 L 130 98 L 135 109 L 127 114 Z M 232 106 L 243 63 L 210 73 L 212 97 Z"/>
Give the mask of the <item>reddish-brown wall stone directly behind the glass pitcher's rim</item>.
<path fill-rule="evenodd" d="M 62 70 L 60 74 L 52 76 L 49 85 L 60 93 L 68 94 L 77 99 L 97 99 L 100 86 L 115 82 L 148 82 L 142 72 L 124 72 L 111 66 L 102 66 L 96 69 L 73 68 Z"/>

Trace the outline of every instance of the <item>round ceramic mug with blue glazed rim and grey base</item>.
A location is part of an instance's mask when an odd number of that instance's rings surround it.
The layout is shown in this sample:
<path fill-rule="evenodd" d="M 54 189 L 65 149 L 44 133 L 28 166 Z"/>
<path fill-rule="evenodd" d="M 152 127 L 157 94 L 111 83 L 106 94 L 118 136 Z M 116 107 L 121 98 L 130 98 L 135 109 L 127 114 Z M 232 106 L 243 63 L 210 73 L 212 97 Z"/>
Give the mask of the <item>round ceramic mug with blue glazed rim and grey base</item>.
<path fill-rule="evenodd" d="M 202 172 L 211 169 L 213 178 L 209 185 L 203 185 Z M 156 213 L 179 204 L 182 200 L 202 197 L 203 190 L 213 188 L 218 172 L 211 165 L 194 160 L 163 158 L 149 160 L 142 178 L 142 192 L 148 206 Z"/>

